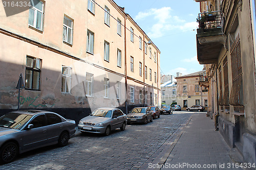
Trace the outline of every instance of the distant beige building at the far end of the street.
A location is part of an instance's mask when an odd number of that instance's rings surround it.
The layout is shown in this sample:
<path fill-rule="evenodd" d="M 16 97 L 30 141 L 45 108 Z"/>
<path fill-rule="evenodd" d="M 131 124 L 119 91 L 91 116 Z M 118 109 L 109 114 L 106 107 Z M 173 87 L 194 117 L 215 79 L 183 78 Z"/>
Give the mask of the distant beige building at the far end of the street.
<path fill-rule="evenodd" d="M 182 110 L 193 105 L 205 106 L 207 111 L 208 93 L 199 86 L 200 74 L 203 71 L 194 72 L 189 75 L 176 77 L 177 80 L 177 104 Z"/>

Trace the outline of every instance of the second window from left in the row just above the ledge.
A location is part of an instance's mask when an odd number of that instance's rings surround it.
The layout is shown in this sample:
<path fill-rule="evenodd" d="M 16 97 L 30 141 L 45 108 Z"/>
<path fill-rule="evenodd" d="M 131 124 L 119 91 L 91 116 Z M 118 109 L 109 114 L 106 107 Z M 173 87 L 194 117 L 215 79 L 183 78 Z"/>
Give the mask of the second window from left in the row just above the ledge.
<path fill-rule="evenodd" d="M 72 44 L 73 38 L 73 20 L 64 16 L 63 21 L 63 41 Z"/>

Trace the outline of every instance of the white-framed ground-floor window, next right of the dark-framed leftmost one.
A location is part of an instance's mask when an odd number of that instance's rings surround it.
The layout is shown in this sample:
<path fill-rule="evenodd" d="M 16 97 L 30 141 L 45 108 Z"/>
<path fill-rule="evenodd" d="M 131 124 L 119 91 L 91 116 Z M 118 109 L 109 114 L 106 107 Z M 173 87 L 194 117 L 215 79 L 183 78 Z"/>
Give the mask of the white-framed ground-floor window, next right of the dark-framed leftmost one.
<path fill-rule="evenodd" d="M 61 92 L 70 93 L 71 90 L 71 67 L 62 66 Z"/>

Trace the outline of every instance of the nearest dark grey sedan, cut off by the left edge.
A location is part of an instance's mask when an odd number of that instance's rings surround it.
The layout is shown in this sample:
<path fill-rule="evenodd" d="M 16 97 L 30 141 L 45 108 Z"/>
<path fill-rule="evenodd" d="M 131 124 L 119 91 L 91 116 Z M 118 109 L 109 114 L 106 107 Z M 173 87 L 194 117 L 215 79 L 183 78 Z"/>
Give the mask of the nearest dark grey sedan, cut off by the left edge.
<path fill-rule="evenodd" d="M 13 111 L 0 117 L 0 161 L 9 163 L 20 153 L 58 143 L 75 135 L 75 121 L 43 110 Z"/>

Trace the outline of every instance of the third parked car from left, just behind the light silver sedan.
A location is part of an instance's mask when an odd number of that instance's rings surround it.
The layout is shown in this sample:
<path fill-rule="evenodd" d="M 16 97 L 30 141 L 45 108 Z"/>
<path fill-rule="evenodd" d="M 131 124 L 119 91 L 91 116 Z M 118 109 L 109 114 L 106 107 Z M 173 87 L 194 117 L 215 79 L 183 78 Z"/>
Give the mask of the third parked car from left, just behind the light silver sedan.
<path fill-rule="evenodd" d="M 127 114 L 127 123 L 147 124 L 148 120 L 153 121 L 153 115 L 148 107 L 135 107 Z"/>

